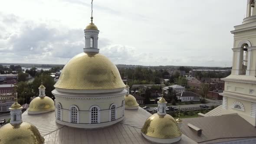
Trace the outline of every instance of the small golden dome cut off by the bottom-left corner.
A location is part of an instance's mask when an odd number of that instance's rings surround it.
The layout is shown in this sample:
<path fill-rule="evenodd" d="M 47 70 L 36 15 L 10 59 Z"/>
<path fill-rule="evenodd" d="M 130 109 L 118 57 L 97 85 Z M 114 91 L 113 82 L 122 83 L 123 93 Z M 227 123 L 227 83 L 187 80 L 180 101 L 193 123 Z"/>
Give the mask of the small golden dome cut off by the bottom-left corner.
<path fill-rule="evenodd" d="M 44 138 L 30 123 L 5 124 L 0 128 L 0 144 L 43 144 Z"/>

